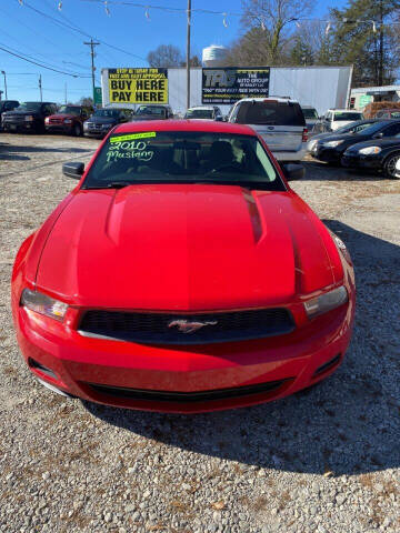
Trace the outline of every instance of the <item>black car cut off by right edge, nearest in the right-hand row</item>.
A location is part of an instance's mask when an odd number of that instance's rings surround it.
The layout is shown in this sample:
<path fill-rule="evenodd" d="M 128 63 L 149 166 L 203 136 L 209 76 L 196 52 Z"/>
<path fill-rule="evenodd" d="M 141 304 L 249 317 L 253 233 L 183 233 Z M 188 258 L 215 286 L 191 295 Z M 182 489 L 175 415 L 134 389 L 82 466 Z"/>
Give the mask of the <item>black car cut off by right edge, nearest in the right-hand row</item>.
<path fill-rule="evenodd" d="M 396 137 L 358 142 L 346 150 L 342 165 L 350 169 L 368 169 L 383 172 L 388 178 L 397 175 L 400 161 L 400 131 Z"/>

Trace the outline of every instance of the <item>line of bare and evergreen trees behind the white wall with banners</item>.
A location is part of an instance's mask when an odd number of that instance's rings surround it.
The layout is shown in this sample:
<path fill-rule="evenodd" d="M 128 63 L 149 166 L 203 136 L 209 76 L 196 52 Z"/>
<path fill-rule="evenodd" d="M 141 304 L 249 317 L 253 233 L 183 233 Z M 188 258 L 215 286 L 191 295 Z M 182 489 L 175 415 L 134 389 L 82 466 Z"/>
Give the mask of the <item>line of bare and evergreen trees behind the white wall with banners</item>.
<path fill-rule="evenodd" d="M 349 0 L 312 20 L 311 0 L 242 0 L 241 36 L 226 66 L 348 66 L 353 86 L 390 84 L 400 67 L 400 0 Z M 309 20 L 307 20 L 309 19 Z M 327 22 L 329 21 L 329 23 Z M 150 67 L 183 67 L 172 44 L 149 52 Z M 200 67 L 197 56 L 192 67 Z"/>

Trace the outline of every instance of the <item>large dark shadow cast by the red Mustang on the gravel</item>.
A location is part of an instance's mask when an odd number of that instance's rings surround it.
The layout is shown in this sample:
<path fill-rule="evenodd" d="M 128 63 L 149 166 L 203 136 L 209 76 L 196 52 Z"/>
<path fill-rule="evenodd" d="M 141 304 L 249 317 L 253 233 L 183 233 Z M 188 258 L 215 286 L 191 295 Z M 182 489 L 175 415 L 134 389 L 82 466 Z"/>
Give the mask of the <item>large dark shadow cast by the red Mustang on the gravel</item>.
<path fill-rule="evenodd" d="M 279 402 L 232 411 L 171 415 L 84 402 L 88 411 L 181 450 L 262 467 L 339 475 L 399 466 L 400 248 L 324 223 L 348 243 L 358 282 L 353 340 L 336 374 Z"/>

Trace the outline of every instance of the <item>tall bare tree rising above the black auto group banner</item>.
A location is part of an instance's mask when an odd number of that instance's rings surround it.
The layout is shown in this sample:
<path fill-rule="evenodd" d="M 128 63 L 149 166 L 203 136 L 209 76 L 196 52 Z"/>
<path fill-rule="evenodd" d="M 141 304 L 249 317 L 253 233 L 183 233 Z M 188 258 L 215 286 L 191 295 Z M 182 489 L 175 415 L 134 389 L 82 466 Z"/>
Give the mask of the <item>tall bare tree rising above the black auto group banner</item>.
<path fill-rule="evenodd" d="M 287 44 L 284 30 L 294 21 L 307 16 L 311 9 L 310 0 L 242 0 L 242 26 L 262 28 L 268 36 L 270 64 L 280 61 L 282 48 Z"/>

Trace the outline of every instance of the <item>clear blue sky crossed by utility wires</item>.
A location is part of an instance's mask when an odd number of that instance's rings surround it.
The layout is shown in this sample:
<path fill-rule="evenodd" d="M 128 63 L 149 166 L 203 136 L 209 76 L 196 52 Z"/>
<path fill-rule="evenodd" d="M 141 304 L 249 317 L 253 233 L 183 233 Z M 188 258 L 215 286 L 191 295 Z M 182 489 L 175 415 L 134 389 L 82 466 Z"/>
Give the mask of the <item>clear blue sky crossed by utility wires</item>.
<path fill-rule="evenodd" d="M 129 1 L 129 0 L 127 0 Z M 133 2 L 133 0 L 132 0 Z M 69 102 L 91 95 L 90 49 L 83 41 L 100 41 L 96 48 L 97 84 L 102 68 L 147 67 L 146 57 L 159 44 L 186 47 L 184 13 L 134 8 L 98 0 L 0 0 L 0 71 L 6 72 L 8 99 L 39 100 L 39 76 L 43 101 Z M 133 2 L 134 3 L 134 2 Z M 138 0 L 137 3 L 186 9 L 187 0 Z M 344 6 L 346 0 L 316 0 L 311 17 L 324 17 L 330 4 Z M 241 0 L 192 0 L 192 9 L 240 12 Z M 36 11 L 39 10 L 40 12 Z M 57 22 L 59 21 L 59 23 Z M 229 44 L 242 31 L 240 18 L 193 12 L 191 23 L 192 54 L 210 44 Z M 64 26 L 74 27 L 79 31 Z M 120 50 L 116 50 L 116 47 Z M 1 50 L 6 48 L 31 61 L 44 63 L 63 73 L 23 61 Z M 76 74 L 76 77 L 68 76 Z M 4 76 L 0 73 L 0 90 Z M 4 99 L 6 94 L 2 94 Z"/>

